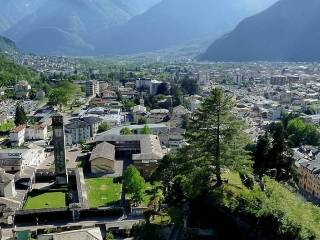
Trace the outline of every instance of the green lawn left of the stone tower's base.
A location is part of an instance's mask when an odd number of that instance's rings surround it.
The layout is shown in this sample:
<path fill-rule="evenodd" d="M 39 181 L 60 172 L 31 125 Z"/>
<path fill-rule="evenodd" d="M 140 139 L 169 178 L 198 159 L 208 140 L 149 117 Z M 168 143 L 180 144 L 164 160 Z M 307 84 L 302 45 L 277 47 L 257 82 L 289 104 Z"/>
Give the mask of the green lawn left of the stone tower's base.
<path fill-rule="evenodd" d="M 62 208 L 66 206 L 64 192 L 48 192 L 28 197 L 24 209 Z"/>

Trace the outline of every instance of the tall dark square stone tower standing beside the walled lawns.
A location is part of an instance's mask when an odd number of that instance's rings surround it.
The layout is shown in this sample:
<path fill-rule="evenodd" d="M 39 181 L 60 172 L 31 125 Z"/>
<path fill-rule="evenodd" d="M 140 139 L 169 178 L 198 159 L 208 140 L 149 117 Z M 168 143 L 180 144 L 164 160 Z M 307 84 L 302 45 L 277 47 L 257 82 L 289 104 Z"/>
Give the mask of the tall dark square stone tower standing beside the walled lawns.
<path fill-rule="evenodd" d="M 63 116 L 55 114 L 52 116 L 54 163 L 56 184 L 68 184 L 68 172 L 66 163 L 65 136 L 63 126 Z"/>

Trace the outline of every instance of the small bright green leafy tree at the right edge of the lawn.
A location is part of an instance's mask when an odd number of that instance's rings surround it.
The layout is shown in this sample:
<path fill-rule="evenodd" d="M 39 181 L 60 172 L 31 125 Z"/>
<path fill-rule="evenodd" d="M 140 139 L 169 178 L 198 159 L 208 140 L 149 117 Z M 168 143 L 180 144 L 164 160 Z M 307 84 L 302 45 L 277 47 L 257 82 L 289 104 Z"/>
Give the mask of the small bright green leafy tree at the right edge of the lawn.
<path fill-rule="evenodd" d="M 130 165 L 123 175 L 123 186 L 126 193 L 132 196 L 131 200 L 135 205 L 143 201 L 145 181 L 133 165 Z"/>

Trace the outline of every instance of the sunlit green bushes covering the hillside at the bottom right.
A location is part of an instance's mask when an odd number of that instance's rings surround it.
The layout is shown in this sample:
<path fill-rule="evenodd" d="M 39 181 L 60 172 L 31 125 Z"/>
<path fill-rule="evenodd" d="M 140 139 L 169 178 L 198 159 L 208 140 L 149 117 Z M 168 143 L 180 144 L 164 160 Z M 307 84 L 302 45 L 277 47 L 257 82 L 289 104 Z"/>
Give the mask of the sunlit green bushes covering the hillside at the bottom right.
<path fill-rule="evenodd" d="M 236 173 L 226 174 L 225 177 L 229 183 L 212 191 L 218 206 L 251 220 L 255 227 L 281 239 L 320 238 L 318 207 L 305 203 L 268 177 L 263 178 L 264 191 L 257 186 L 253 190 L 246 188 Z"/>

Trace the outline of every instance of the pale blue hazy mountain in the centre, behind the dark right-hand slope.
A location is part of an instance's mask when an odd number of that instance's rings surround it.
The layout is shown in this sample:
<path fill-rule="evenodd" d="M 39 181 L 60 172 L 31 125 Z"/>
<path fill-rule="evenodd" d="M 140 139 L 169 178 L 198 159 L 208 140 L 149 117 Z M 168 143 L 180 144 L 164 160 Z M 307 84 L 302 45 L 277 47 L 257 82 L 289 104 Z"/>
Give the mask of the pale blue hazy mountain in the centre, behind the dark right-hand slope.
<path fill-rule="evenodd" d="M 131 54 L 172 47 L 196 38 L 212 39 L 275 0 L 163 0 L 129 22 L 102 31 L 99 53 Z"/>

